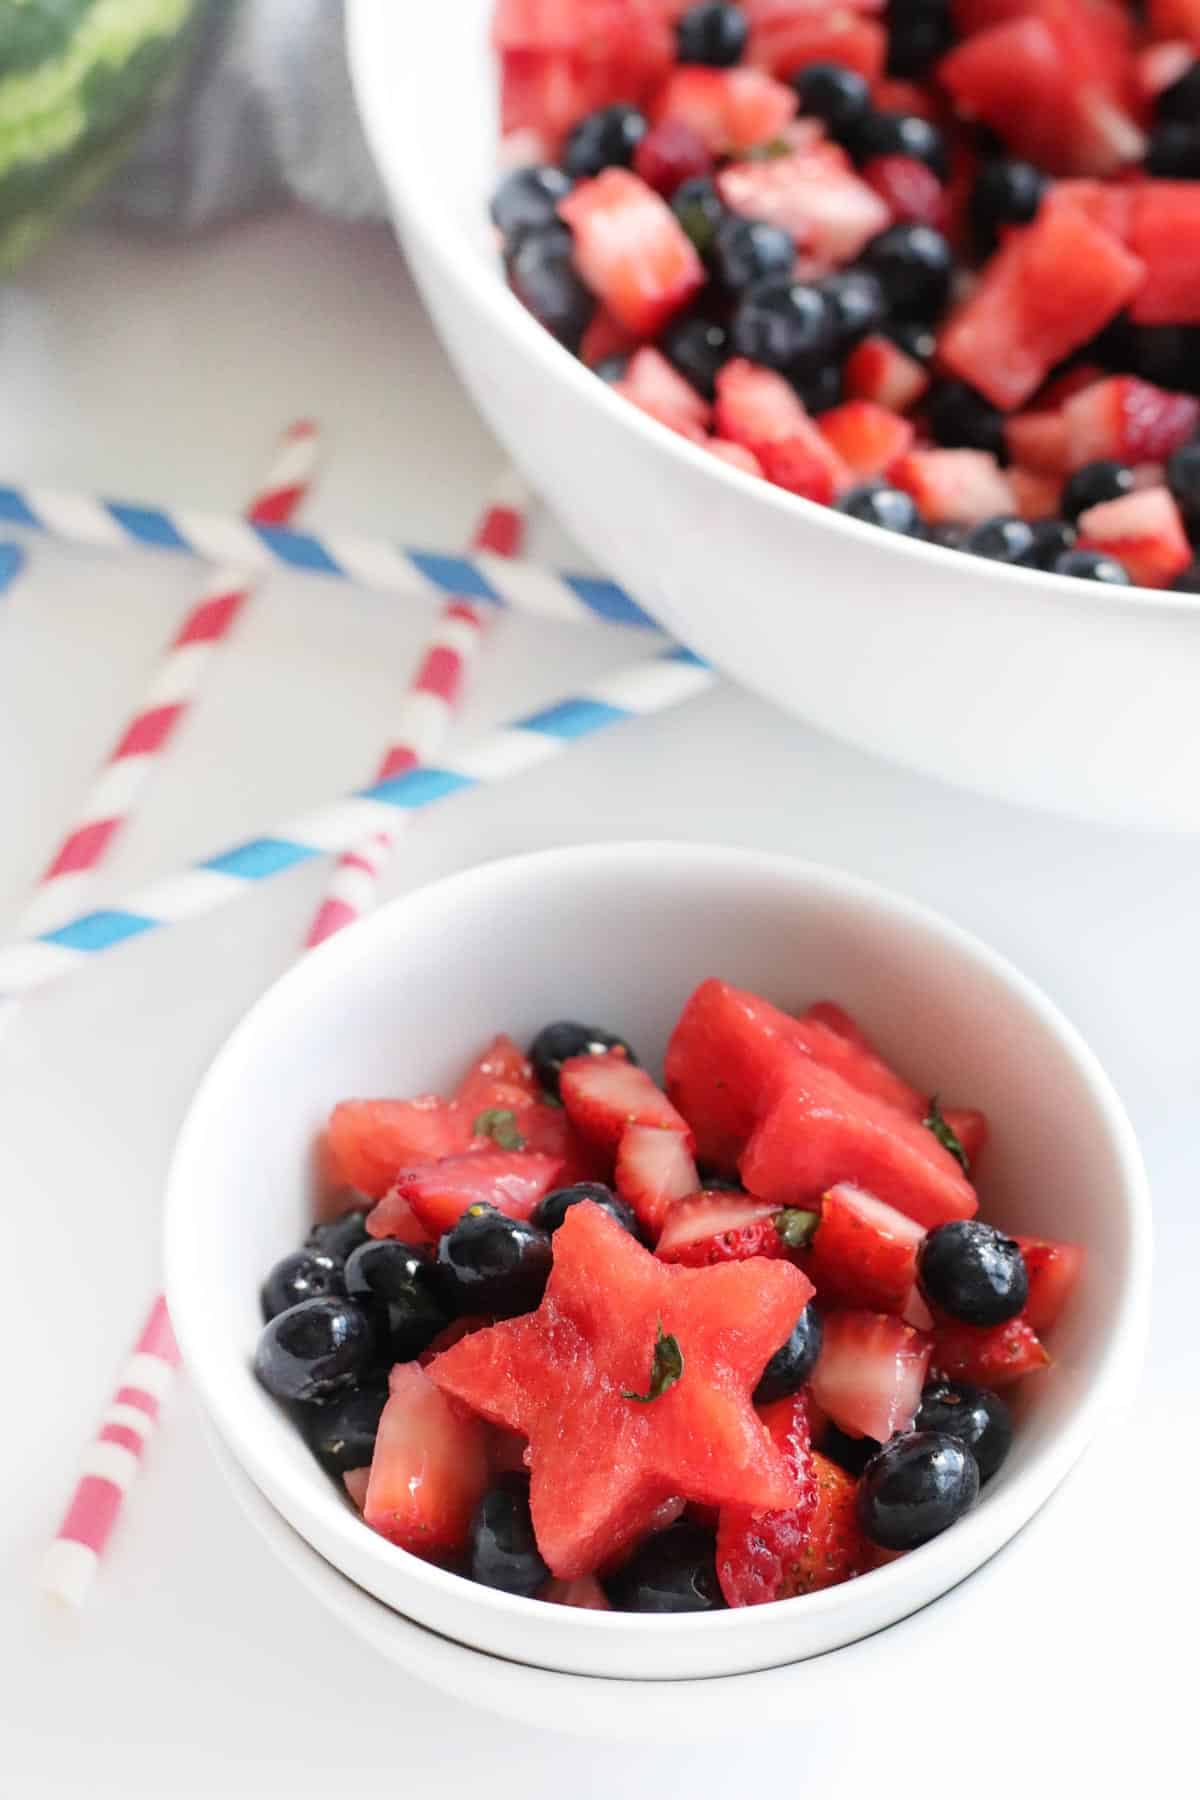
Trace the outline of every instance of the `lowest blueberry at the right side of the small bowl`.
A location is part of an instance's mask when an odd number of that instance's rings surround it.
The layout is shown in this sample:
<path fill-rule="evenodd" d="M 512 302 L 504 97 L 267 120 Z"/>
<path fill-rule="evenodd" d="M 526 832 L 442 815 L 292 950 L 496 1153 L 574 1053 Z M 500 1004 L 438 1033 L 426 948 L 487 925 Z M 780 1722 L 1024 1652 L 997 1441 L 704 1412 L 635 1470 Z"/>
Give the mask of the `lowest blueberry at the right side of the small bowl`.
<path fill-rule="evenodd" d="M 858 1483 L 858 1523 L 885 1550 L 916 1550 L 979 1498 L 979 1467 L 959 1438 L 914 1431 L 873 1456 Z"/>

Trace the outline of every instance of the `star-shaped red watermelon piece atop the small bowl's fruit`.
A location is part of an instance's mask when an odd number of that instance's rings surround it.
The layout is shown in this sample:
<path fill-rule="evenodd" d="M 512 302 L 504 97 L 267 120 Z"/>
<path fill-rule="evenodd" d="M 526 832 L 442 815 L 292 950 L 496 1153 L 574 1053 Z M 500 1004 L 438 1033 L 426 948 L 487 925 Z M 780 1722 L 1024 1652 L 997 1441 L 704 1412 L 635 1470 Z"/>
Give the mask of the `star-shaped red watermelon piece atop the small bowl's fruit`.
<path fill-rule="evenodd" d="M 658 1262 L 583 1202 L 554 1235 L 538 1310 L 462 1337 L 428 1373 L 529 1440 L 538 1548 L 572 1580 L 619 1557 L 671 1498 L 797 1505 L 750 1397 L 811 1292 L 788 1262 Z"/>

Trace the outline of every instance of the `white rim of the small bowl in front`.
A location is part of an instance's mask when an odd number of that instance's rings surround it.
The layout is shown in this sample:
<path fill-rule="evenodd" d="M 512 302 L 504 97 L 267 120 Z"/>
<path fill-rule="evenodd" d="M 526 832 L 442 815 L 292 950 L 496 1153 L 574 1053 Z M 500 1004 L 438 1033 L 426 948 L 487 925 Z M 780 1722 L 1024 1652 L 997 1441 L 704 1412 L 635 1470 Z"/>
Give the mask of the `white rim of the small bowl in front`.
<path fill-rule="evenodd" d="M 747 880 L 790 882 L 797 893 L 804 889 L 804 900 L 810 904 L 837 905 L 853 902 L 865 905 L 896 923 L 932 934 L 948 949 L 979 963 L 984 974 L 991 976 L 991 979 L 1024 1003 L 1038 1030 L 1074 1064 L 1108 1134 L 1108 1156 L 1114 1163 L 1114 1174 L 1123 1197 L 1124 1246 L 1119 1264 L 1121 1289 L 1115 1312 L 1103 1346 L 1097 1352 L 1088 1390 L 1063 1429 L 1043 1445 L 1036 1460 L 1015 1478 L 1013 1485 L 990 1496 L 991 1507 L 975 1508 L 957 1523 L 954 1532 L 932 1539 L 896 1562 L 858 1577 L 855 1586 L 858 1588 L 864 1580 L 873 1582 L 873 1591 L 880 1600 L 892 1591 L 900 1606 L 896 1613 L 900 1618 L 905 1613 L 903 1589 L 910 1579 L 912 1557 L 923 1559 L 927 1579 L 936 1582 L 939 1591 L 955 1586 L 964 1573 L 988 1561 L 1013 1530 L 1018 1530 L 1020 1525 L 1033 1517 L 1085 1449 L 1099 1417 L 1112 1404 L 1114 1391 L 1124 1375 L 1130 1348 L 1133 1348 L 1133 1354 L 1141 1354 L 1148 1318 L 1151 1219 L 1146 1172 L 1133 1127 L 1106 1073 L 1076 1026 L 1070 1024 L 1036 983 L 982 940 L 921 902 L 842 869 L 777 851 L 675 839 L 570 844 L 495 859 L 428 882 L 380 907 L 372 918 L 360 922 L 354 931 L 340 932 L 315 952 L 309 950 L 266 988 L 218 1049 L 194 1091 L 176 1138 L 166 1190 L 166 1285 L 184 1361 L 221 1440 L 239 1465 L 246 1469 L 255 1485 L 263 1485 L 263 1478 L 255 1471 L 264 1465 L 266 1458 L 261 1454 L 254 1433 L 252 1399 L 248 1393 L 228 1393 L 219 1375 L 214 1375 L 214 1370 L 209 1366 L 203 1318 L 207 1303 L 203 1292 L 191 1280 L 193 1258 L 189 1253 L 193 1231 L 193 1208 L 189 1202 L 193 1202 L 194 1193 L 189 1165 L 194 1159 L 194 1147 L 203 1141 L 209 1130 L 209 1111 L 214 1105 L 218 1111 L 223 1107 L 223 1089 L 230 1078 L 236 1082 L 237 1069 L 259 1035 L 266 1030 L 272 1039 L 286 1037 L 290 1021 L 304 1015 L 313 990 L 327 992 L 331 986 L 336 988 L 345 979 L 353 979 L 356 968 L 374 965 L 376 954 L 387 954 L 383 947 L 403 936 L 398 932 L 398 922 L 414 905 L 437 905 L 446 914 L 453 914 L 459 896 L 497 880 L 509 882 L 520 878 L 552 889 L 563 880 L 590 880 L 601 864 L 608 868 L 621 866 L 626 877 L 633 877 L 637 864 L 653 875 L 655 871 L 662 871 L 667 860 L 684 871 L 691 866 L 698 878 L 703 878 L 705 873 L 741 871 Z M 273 1469 L 273 1481 L 279 1489 L 293 1496 L 299 1512 L 311 1510 L 311 1503 L 295 1494 L 297 1481 L 290 1471 Z M 322 1507 L 322 1521 L 333 1539 L 349 1546 L 347 1553 L 365 1557 L 371 1562 L 376 1559 L 383 1562 L 387 1559 L 392 1575 L 396 1575 L 398 1568 L 394 1559 L 399 1557 L 403 1559 L 405 1580 L 428 1589 L 432 1595 L 444 1593 L 450 1600 L 462 1600 L 464 1586 L 471 1586 L 471 1602 L 475 1606 L 495 1616 L 506 1616 L 515 1624 L 531 1620 L 536 1616 L 531 1609 L 543 1607 L 545 1602 L 540 1600 L 470 1584 L 466 1577 L 437 1568 L 432 1562 L 423 1562 L 399 1546 L 387 1543 L 387 1539 L 378 1537 L 349 1507 L 338 1501 L 335 1489 L 326 1481 L 317 1463 L 313 1463 L 311 1481 L 313 1492 L 317 1492 L 317 1483 L 327 1489 L 327 1507 Z M 308 1492 L 308 1481 L 304 1483 L 304 1490 Z M 1031 1494 L 1034 1496 L 1033 1503 L 1029 1503 Z M 1009 1519 L 1016 1519 L 1016 1525 L 999 1537 L 997 1519 L 1000 1514 L 997 1503 Z M 284 1516 L 290 1517 L 290 1514 Z M 939 1566 L 934 1568 L 934 1564 Z M 772 1602 L 770 1618 L 781 1620 L 783 1609 L 792 1609 L 792 1616 L 799 1618 L 801 1615 L 795 1609 L 806 1607 L 802 1616 L 817 1620 L 820 1615 L 835 1613 L 840 1604 L 840 1589 L 828 1588 L 820 1593 Z M 604 1634 L 628 1631 L 630 1615 L 576 1609 L 574 1625 L 581 1634 L 581 1642 L 588 1634 L 603 1638 Z M 707 1631 L 716 1640 L 721 1633 L 745 1629 L 747 1620 L 741 1607 L 703 1615 L 639 1615 L 639 1633 L 658 1636 L 664 1647 L 680 1633 Z"/>

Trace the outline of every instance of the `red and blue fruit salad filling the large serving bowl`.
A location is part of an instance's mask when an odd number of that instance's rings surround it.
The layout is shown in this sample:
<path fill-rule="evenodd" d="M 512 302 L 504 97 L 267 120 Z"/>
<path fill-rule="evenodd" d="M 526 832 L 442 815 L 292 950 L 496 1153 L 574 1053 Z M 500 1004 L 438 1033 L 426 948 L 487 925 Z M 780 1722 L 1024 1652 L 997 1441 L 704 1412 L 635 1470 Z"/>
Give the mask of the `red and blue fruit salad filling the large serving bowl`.
<path fill-rule="evenodd" d="M 1200 592 L 1200 0 L 497 0 L 509 284 L 883 531 Z"/>

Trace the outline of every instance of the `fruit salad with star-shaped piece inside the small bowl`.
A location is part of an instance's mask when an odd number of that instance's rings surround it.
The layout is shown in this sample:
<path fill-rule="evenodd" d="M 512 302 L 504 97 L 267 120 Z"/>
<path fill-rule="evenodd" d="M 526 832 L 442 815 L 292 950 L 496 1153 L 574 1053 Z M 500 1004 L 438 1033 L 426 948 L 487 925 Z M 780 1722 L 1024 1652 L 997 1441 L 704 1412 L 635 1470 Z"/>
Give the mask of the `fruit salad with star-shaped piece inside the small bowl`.
<path fill-rule="evenodd" d="M 367 1526 L 488 1588 L 705 1613 L 950 1528 L 1083 1251 L 977 1215 L 988 1123 L 824 1001 L 703 981 L 658 1084 L 621 1035 L 489 1042 L 345 1100 L 255 1352 Z"/>

